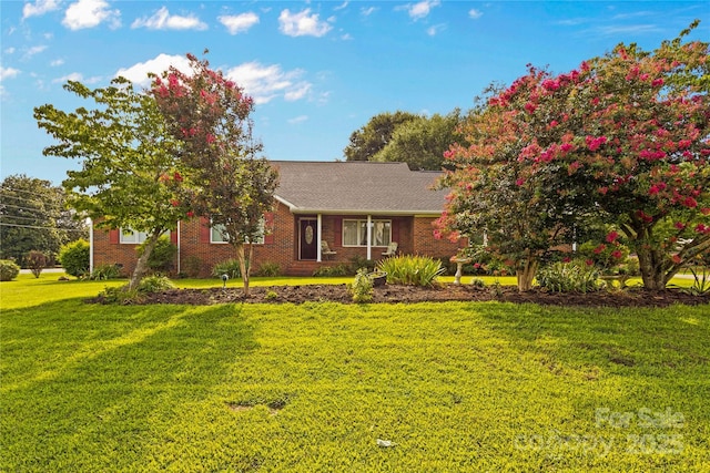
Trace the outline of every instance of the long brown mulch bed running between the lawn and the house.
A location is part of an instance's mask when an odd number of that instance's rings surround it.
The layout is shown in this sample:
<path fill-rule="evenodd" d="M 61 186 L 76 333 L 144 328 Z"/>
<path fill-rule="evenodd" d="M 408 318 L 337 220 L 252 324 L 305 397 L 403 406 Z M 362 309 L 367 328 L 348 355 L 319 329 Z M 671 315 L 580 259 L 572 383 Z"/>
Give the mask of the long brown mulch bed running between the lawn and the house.
<path fill-rule="evenodd" d="M 679 289 L 667 289 L 660 292 L 645 289 L 626 289 L 616 291 L 600 290 L 588 294 L 547 292 L 531 290 L 518 292 L 515 287 L 484 287 L 468 285 L 444 285 L 434 288 L 414 286 L 385 285 L 374 290 L 374 304 L 425 302 L 425 301 L 505 301 L 514 304 L 539 304 L 548 306 L 577 307 L 668 307 L 673 304 L 689 306 L 710 304 L 710 297 L 692 296 Z M 303 304 L 332 301 L 353 304 L 345 285 L 304 285 L 304 286 L 273 286 L 252 287 L 251 295 L 245 298 L 241 287 L 210 288 L 210 289 L 172 289 L 155 292 L 142 298 L 135 304 L 185 304 L 207 306 L 213 304 L 248 302 L 248 304 Z M 100 298 L 90 302 L 101 304 Z"/>

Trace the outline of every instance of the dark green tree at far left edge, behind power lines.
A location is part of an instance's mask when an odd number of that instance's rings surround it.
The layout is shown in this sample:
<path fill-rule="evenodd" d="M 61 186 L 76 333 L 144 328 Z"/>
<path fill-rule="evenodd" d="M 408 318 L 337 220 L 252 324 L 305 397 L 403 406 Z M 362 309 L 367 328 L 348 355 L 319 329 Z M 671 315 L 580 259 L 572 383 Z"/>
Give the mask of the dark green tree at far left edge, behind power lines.
<path fill-rule="evenodd" d="M 32 250 L 54 260 L 62 245 L 87 238 L 83 218 L 65 208 L 62 187 L 23 174 L 0 184 L 0 259 L 13 258 L 26 266 Z"/>

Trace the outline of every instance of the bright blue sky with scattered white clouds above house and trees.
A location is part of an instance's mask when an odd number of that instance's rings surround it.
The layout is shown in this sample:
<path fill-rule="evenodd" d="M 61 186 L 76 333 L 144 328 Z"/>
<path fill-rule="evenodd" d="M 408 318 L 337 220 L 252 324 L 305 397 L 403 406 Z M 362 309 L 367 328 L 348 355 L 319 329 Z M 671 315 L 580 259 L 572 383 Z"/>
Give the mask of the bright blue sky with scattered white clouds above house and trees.
<path fill-rule="evenodd" d="M 134 82 L 184 54 L 256 102 L 254 133 L 271 160 L 343 158 L 353 131 L 383 112 L 467 110 L 526 64 L 566 72 L 619 42 L 647 50 L 690 22 L 710 39 L 707 1 L 0 1 L 0 177 L 59 184 L 78 163 L 45 157 L 34 106 L 89 106 L 67 80 Z"/>

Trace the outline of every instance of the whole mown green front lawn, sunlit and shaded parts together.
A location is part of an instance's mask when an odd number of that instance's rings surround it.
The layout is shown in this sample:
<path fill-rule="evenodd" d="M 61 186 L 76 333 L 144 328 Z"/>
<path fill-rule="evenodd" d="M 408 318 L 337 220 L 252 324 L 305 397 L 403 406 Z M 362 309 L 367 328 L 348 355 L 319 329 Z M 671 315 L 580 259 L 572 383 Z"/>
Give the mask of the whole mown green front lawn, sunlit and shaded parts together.
<path fill-rule="evenodd" d="M 82 285 L 0 285 L 0 471 L 708 466 L 708 306 L 99 307 Z"/>

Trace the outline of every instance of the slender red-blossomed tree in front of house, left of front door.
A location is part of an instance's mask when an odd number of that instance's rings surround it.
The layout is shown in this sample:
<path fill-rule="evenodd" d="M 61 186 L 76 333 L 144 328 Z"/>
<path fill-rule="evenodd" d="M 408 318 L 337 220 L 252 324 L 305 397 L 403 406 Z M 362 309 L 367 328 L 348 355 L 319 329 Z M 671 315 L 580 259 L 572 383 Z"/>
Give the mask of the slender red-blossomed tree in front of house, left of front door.
<path fill-rule="evenodd" d="M 206 60 L 187 54 L 192 74 L 171 68 L 155 78 L 152 95 L 179 142 L 174 153 L 196 189 L 184 195 L 195 212 L 219 226 L 240 261 L 244 294 L 253 243 L 263 237 L 277 174 L 252 138 L 253 100 Z"/>

